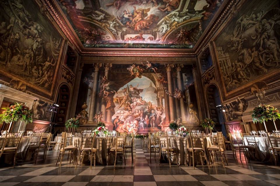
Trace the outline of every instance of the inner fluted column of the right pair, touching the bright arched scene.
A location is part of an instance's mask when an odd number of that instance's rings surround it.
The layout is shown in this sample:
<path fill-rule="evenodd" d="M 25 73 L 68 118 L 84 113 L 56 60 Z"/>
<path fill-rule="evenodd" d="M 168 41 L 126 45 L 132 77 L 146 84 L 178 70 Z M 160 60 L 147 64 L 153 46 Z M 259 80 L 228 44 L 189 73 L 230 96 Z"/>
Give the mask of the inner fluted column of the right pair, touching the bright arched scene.
<path fill-rule="evenodd" d="M 173 81 L 172 81 L 172 67 L 174 67 L 174 64 L 168 64 L 166 67 L 166 73 L 167 73 L 167 81 L 168 81 L 168 91 L 169 93 L 173 94 Z M 169 99 L 169 115 L 170 115 L 170 122 L 175 121 L 174 117 L 174 97 L 168 96 Z"/>

